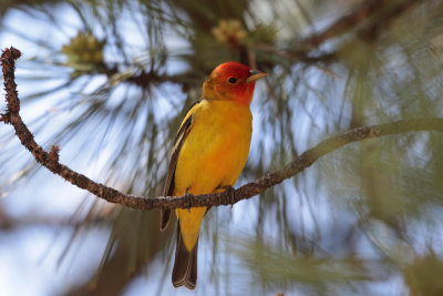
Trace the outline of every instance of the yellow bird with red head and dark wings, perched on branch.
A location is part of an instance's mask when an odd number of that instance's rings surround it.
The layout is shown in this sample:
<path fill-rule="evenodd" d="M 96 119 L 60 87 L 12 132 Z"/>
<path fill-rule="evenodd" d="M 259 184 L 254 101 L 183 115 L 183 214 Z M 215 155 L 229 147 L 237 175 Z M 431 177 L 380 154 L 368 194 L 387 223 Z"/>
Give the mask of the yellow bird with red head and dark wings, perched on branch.
<path fill-rule="evenodd" d="M 188 109 L 175 136 L 164 196 L 233 190 L 249 154 L 255 83 L 266 75 L 239 62 L 214 69 L 203 84 L 202 99 Z M 196 287 L 198 236 L 207 211 L 206 206 L 175 210 L 174 287 Z M 169 220 L 171 210 L 162 210 L 162 231 Z"/>

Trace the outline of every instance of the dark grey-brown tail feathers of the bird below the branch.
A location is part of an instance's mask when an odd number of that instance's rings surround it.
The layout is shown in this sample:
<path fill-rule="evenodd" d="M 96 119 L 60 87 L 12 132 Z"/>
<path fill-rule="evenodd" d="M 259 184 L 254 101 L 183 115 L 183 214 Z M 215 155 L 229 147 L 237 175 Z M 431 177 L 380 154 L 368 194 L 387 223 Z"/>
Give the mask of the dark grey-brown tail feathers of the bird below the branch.
<path fill-rule="evenodd" d="M 177 227 L 177 244 L 175 249 L 175 262 L 173 269 L 174 287 L 185 286 L 188 289 L 195 289 L 197 284 L 197 248 L 198 239 L 194 248 L 189 252 L 182 238 L 182 231 Z"/>

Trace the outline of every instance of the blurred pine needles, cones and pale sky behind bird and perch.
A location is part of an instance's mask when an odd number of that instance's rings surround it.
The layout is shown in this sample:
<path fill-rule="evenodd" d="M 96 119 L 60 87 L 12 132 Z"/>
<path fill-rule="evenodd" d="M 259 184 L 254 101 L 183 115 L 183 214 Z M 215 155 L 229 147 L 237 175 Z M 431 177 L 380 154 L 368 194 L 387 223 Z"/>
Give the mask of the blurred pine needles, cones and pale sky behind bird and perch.
<path fill-rule="evenodd" d="M 184 111 L 225 61 L 269 73 L 236 187 L 346 130 L 443 116 L 440 0 L 2 0 L 0 45 L 23 53 L 37 142 L 137 195 L 161 195 Z M 188 292 L 158 211 L 62 181 L 2 124 L 0 295 L 443 295 L 442 151 L 436 132 L 362 141 L 213 207 Z"/>

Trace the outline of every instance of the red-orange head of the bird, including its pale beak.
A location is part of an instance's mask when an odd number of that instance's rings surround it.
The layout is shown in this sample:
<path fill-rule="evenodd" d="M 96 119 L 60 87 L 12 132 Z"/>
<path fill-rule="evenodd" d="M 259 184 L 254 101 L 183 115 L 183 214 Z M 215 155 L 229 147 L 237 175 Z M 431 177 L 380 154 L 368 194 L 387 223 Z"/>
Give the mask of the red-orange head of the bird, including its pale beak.
<path fill-rule="evenodd" d="M 214 69 L 203 84 L 203 98 L 233 100 L 249 105 L 256 81 L 264 76 L 266 73 L 251 70 L 241 63 L 223 63 Z"/>

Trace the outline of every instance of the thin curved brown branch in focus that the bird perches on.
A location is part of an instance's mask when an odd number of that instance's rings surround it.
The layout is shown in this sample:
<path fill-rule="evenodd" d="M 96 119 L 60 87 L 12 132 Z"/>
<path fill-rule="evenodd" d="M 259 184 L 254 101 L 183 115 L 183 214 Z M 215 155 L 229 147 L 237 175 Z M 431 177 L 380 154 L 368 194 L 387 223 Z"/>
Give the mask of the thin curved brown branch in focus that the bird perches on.
<path fill-rule="evenodd" d="M 12 124 L 17 136 L 21 144 L 29 150 L 35 161 L 52 173 L 60 175 L 70 183 L 80 188 L 86 190 L 92 194 L 115 204 L 121 204 L 132 208 L 152 210 L 152 208 L 188 208 L 193 206 L 216 206 L 235 204 L 241 200 L 250 198 L 262 193 L 284 180 L 292 177 L 311 166 L 319 157 L 338 150 L 346 144 L 358 142 L 367 139 L 380 137 L 384 135 L 401 134 L 418 131 L 440 131 L 443 132 L 443 119 L 411 119 L 400 120 L 385 124 L 372 126 L 363 126 L 352 129 L 340 135 L 332 136 L 320 142 L 315 147 L 307 150 L 295 161 L 288 163 L 284 169 L 268 173 L 262 177 L 248 183 L 238 190 L 204 194 L 204 195 L 186 195 L 186 196 L 166 196 L 166 197 L 144 197 L 121 193 L 114 188 L 96 183 L 85 175 L 72 171 L 70 167 L 59 162 L 59 146 L 52 146 L 50 153 L 45 152 L 35 143 L 34 136 L 29 131 L 20 116 L 20 101 L 17 93 L 17 84 L 14 81 L 16 60 L 21 55 L 20 51 L 10 48 L 6 49 L 1 55 L 1 67 L 4 79 L 6 99 L 8 102 L 6 113 L 1 115 L 0 121 Z"/>

